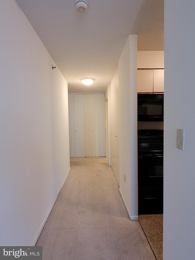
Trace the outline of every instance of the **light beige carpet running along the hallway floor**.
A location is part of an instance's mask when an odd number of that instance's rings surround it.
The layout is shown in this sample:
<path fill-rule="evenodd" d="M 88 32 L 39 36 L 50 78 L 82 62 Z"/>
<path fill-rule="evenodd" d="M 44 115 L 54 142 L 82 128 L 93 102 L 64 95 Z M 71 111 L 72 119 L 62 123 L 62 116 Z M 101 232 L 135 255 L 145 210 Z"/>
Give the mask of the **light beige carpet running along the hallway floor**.
<path fill-rule="evenodd" d="M 36 245 L 43 260 L 155 260 L 140 223 L 129 220 L 104 157 L 71 158 Z"/>

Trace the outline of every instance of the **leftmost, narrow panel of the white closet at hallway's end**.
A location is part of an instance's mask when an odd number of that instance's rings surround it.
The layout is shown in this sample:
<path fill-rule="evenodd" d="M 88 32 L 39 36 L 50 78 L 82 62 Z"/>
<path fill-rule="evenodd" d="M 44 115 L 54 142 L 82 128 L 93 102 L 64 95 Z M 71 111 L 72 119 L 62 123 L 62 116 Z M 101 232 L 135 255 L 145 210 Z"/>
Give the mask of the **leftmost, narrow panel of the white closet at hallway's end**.
<path fill-rule="evenodd" d="M 70 157 L 75 157 L 75 153 L 74 153 L 74 103 L 73 103 L 73 94 L 68 95 L 68 114 L 69 114 Z"/>

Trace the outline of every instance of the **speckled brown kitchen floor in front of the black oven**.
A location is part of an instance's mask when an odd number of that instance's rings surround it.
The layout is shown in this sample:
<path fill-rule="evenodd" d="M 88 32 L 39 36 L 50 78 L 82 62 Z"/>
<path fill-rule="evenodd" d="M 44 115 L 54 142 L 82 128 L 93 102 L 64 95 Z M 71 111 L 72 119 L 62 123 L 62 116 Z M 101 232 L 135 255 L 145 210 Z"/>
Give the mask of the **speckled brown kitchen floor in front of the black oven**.
<path fill-rule="evenodd" d="M 139 215 L 139 222 L 157 260 L 163 259 L 163 214 Z"/>

